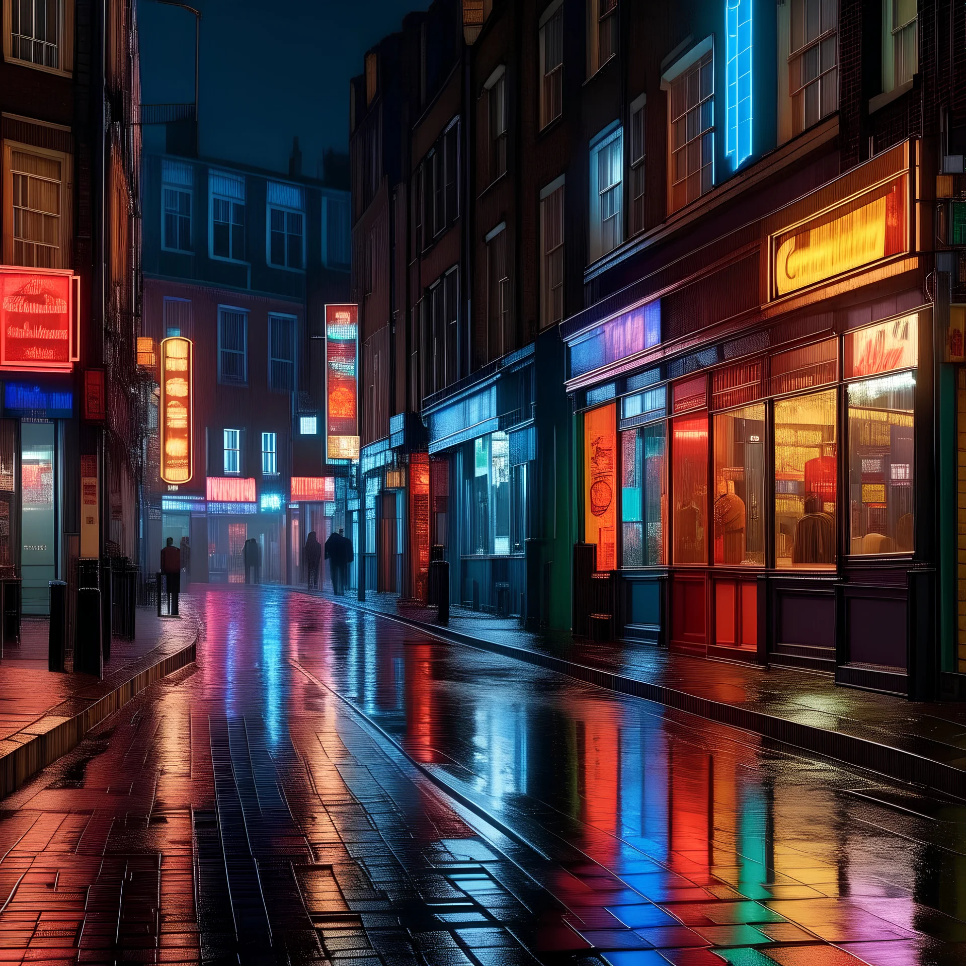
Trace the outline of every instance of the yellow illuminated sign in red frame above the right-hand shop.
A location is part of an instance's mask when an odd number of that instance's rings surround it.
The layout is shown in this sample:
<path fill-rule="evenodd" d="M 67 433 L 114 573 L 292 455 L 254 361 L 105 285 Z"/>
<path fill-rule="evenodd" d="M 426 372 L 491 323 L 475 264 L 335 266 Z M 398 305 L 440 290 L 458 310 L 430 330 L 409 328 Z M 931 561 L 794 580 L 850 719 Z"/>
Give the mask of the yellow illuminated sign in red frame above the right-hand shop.
<path fill-rule="evenodd" d="M 772 237 L 773 297 L 906 250 L 904 176 Z"/>

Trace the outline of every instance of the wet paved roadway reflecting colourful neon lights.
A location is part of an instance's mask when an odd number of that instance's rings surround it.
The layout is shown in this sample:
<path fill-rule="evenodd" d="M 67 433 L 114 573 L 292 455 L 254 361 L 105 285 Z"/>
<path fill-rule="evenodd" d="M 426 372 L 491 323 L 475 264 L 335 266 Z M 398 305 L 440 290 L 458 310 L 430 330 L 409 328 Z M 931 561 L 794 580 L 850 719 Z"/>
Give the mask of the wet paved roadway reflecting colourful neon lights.
<path fill-rule="evenodd" d="M 284 590 L 0 812 L 0 962 L 966 962 L 966 809 Z"/>

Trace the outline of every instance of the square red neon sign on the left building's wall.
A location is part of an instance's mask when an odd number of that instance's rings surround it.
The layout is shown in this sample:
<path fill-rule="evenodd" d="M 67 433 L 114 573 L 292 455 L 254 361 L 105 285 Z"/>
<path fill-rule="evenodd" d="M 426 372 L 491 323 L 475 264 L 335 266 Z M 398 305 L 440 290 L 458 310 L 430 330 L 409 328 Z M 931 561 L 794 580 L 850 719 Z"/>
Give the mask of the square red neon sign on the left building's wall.
<path fill-rule="evenodd" d="M 0 269 L 0 366 L 71 369 L 80 357 L 79 295 L 71 271 Z"/>

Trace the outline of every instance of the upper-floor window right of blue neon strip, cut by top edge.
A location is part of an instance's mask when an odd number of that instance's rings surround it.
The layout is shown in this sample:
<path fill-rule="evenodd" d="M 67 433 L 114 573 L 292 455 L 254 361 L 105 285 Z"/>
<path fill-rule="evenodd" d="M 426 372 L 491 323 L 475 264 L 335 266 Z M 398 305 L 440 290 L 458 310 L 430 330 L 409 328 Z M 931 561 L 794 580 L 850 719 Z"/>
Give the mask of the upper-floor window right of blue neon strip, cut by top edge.
<path fill-rule="evenodd" d="M 791 0 L 789 15 L 788 96 L 795 135 L 838 110 L 838 0 Z"/>

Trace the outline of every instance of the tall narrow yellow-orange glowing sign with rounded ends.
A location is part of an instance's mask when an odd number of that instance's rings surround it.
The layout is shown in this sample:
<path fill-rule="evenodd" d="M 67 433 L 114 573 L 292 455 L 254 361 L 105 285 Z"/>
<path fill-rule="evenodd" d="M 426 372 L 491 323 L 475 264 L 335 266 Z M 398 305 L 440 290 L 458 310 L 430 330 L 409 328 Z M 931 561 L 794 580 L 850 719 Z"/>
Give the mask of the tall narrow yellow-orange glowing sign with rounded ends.
<path fill-rule="evenodd" d="M 176 335 L 161 342 L 160 475 L 182 484 L 194 475 L 194 359 L 190 339 Z"/>

